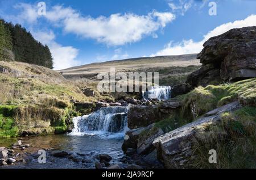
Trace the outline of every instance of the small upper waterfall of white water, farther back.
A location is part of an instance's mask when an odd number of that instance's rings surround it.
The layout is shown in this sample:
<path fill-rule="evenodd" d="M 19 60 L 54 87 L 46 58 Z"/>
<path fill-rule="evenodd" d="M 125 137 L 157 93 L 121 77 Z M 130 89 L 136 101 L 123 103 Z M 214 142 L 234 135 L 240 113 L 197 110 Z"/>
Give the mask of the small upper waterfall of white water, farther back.
<path fill-rule="evenodd" d="M 171 98 L 171 86 L 152 87 L 151 90 L 142 93 L 143 99 L 158 99 L 159 101 Z"/>

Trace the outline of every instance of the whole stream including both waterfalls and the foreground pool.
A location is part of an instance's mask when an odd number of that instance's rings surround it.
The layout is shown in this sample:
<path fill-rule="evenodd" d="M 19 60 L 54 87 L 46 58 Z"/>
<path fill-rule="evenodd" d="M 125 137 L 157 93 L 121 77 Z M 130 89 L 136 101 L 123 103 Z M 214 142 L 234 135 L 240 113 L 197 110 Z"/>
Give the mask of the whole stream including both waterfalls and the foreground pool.
<path fill-rule="evenodd" d="M 171 87 L 159 87 L 144 93 L 144 99 L 168 99 Z M 109 154 L 110 164 L 117 164 L 124 156 L 121 148 L 127 128 L 129 106 L 102 107 L 90 115 L 73 118 L 74 128 L 66 135 L 23 137 L 23 144 L 30 144 L 25 150 L 26 163 L 16 163 L 4 168 L 95 168 L 98 154 Z M 9 147 L 18 138 L 0 139 L 0 146 Z M 38 162 L 39 149 L 46 150 L 46 163 Z M 14 149 L 15 150 L 15 149 Z M 55 152 L 68 152 L 74 159 L 54 157 Z M 19 152 L 19 150 L 18 150 Z M 15 153 L 16 150 L 15 150 Z M 3 168 L 3 166 L 0 166 Z"/>

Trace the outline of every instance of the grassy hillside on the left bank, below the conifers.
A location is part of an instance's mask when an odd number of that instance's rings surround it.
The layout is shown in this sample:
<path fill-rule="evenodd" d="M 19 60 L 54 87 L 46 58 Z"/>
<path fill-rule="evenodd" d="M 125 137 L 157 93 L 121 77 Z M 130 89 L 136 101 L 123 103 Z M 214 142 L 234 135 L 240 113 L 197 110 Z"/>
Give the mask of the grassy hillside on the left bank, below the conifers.
<path fill-rule="evenodd" d="M 64 132 L 79 113 L 74 103 L 110 98 L 96 90 L 86 96 L 83 90 L 93 89 L 88 82 L 67 81 L 54 70 L 24 62 L 0 61 L 0 84 L 0 137 Z"/>

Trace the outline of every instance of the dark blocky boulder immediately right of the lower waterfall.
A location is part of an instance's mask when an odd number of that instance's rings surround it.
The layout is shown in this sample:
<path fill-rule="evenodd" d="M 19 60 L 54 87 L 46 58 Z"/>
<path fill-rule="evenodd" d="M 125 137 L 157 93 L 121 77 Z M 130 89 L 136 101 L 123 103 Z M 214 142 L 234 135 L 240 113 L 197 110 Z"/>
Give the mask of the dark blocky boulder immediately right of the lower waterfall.
<path fill-rule="evenodd" d="M 161 118 L 158 106 L 133 106 L 127 114 L 128 127 L 135 129 L 158 122 Z"/>

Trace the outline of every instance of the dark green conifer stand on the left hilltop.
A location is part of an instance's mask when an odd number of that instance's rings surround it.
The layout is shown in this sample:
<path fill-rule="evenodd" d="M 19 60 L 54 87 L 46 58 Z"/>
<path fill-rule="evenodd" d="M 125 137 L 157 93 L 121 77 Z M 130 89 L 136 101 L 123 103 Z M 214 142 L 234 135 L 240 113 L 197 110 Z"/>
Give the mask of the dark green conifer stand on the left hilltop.
<path fill-rule="evenodd" d="M 20 24 L 0 19 L 0 61 L 20 61 L 53 68 L 53 58 L 47 45 L 35 40 Z"/>

